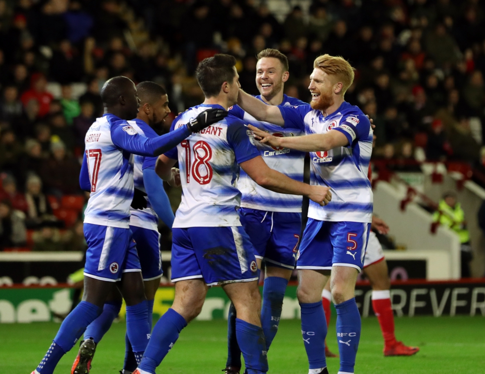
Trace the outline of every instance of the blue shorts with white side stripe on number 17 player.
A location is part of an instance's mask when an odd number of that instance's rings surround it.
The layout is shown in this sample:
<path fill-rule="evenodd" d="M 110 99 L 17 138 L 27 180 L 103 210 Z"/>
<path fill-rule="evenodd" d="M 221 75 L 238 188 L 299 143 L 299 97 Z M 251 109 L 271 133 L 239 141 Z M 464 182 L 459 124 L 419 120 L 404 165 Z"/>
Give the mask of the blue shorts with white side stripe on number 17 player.
<path fill-rule="evenodd" d="M 141 272 L 136 244 L 129 228 L 84 224 L 88 244 L 84 275 L 116 282 L 122 273 Z"/>

